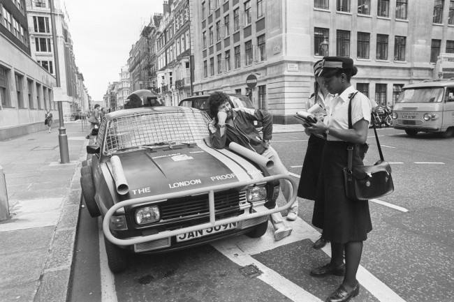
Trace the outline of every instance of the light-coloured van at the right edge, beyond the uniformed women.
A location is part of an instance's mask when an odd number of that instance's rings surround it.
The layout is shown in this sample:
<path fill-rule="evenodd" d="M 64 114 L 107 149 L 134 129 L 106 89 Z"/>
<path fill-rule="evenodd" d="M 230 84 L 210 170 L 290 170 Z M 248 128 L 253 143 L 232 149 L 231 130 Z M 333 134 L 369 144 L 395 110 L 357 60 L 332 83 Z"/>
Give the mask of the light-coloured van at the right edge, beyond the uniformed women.
<path fill-rule="evenodd" d="M 418 132 L 454 135 L 454 80 L 404 86 L 393 107 L 393 127 L 407 135 Z"/>

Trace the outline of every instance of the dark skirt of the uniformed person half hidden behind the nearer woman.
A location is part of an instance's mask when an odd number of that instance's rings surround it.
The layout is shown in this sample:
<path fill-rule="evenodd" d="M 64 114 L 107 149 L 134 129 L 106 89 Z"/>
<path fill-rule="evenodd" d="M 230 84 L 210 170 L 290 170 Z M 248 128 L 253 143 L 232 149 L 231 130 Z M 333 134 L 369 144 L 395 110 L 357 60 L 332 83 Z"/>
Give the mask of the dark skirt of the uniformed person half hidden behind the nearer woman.
<path fill-rule="evenodd" d="M 325 139 L 310 135 L 307 141 L 305 160 L 302 163 L 298 197 L 315 200 L 318 174 L 320 174 L 321 153 Z"/>

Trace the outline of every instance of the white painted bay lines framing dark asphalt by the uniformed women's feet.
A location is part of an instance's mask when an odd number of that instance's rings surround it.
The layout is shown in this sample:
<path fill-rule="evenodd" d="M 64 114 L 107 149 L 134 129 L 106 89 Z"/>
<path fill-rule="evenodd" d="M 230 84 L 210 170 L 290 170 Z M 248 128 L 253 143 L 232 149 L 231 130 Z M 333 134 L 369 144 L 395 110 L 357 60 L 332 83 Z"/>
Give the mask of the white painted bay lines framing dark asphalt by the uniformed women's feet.
<path fill-rule="evenodd" d="M 306 292 L 305 289 L 295 285 L 295 283 L 291 282 L 291 280 L 284 278 L 276 271 L 269 269 L 267 266 L 250 256 L 265 252 L 266 250 L 272 250 L 289 243 L 302 241 L 304 239 L 310 239 L 312 242 L 315 242 L 320 237 L 320 233 L 314 229 L 314 227 L 299 217 L 295 222 L 291 222 L 291 226 L 293 227 L 291 236 L 288 236 L 280 241 L 274 241 L 274 231 L 270 225 L 267 233 L 261 238 L 251 239 L 243 235 L 225 239 L 223 241 L 216 241 L 212 243 L 212 246 L 238 265 L 244 266 L 251 263 L 256 264 L 256 266 L 263 271 L 263 274 L 259 275 L 257 278 L 274 287 L 274 289 L 277 289 L 277 291 L 281 292 L 281 294 L 287 296 L 288 299 L 296 302 L 321 301 L 309 292 Z M 322 248 L 322 250 L 326 255 L 331 257 L 331 248 L 329 243 Z M 369 273 L 369 271 L 361 265 L 358 268 L 356 278 L 360 282 L 361 286 L 367 289 L 367 291 L 374 295 L 379 301 L 405 302 L 404 299 L 393 292 L 392 289 L 372 275 L 372 273 Z"/>

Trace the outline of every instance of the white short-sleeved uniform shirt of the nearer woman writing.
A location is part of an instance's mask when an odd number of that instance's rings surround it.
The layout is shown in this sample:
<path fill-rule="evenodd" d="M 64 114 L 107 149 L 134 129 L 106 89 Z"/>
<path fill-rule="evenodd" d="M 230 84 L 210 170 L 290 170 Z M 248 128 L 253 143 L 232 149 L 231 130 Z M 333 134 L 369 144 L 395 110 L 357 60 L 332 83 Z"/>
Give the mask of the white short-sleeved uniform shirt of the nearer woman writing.
<path fill-rule="evenodd" d="M 349 129 L 349 95 L 355 93 L 356 89 L 349 86 L 339 96 L 332 98 L 328 104 L 328 116 L 323 122 L 330 128 Z M 370 114 L 372 111 L 369 98 L 363 93 L 356 93 L 356 96 L 351 100 L 351 124 L 354 125 L 357 121 L 365 119 L 370 123 Z M 337 137 L 328 135 L 330 141 L 341 141 Z"/>

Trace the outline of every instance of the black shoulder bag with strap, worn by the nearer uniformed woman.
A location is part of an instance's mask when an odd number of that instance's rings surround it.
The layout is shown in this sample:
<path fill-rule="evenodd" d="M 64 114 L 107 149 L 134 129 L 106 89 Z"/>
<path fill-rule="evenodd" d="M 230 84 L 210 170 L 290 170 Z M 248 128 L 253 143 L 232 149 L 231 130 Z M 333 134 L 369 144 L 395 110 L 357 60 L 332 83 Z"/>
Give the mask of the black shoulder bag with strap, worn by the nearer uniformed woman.
<path fill-rule="evenodd" d="M 353 128 L 351 123 L 351 100 L 356 93 L 349 96 L 349 129 Z M 388 162 L 383 158 L 379 136 L 376 134 L 375 124 L 374 127 L 376 146 L 379 149 L 380 160 L 372 166 L 358 166 L 353 165 L 353 151 L 360 152 L 361 158 L 364 156 L 362 146 L 359 144 L 349 144 L 347 146 L 347 167 L 344 167 L 344 187 L 345 195 L 353 200 L 368 200 L 388 195 L 394 191 L 393 178 L 391 177 L 391 167 Z M 365 145 L 367 146 L 367 144 Z"/>

